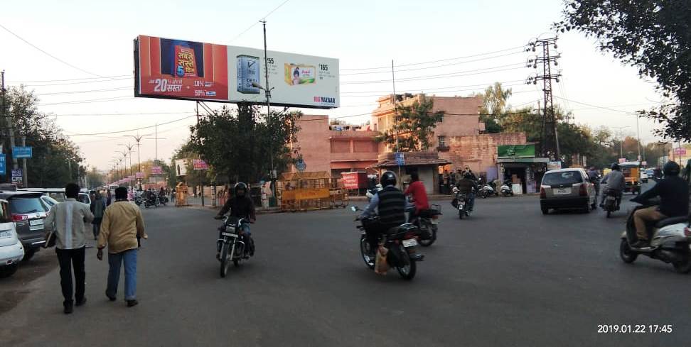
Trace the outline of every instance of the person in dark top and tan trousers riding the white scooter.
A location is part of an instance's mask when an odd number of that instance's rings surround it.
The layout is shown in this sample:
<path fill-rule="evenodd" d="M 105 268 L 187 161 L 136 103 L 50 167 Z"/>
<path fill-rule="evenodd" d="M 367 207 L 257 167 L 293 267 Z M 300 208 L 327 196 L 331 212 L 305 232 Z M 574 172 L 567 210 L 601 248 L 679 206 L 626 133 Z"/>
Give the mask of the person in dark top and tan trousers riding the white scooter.
<path fill-rule="evenodd" d="M 653 197 L 660 197 L 660 206 L 652 206 L 647 209 L 639 209 L 633 214 L 633 222 L 636 224 L 638 241 L 631 247 L 642 248 L 648 246 L 648 228 L 646 223 L 659 221 L 660 219 L 687 216 L 689 214 L 689 186 L 679 176 L 680 167 L 675 162 L 667 162 L 663 166 L 665 178 L 659 180 L 652 188 L 631 199 L 639 204 Z"/>

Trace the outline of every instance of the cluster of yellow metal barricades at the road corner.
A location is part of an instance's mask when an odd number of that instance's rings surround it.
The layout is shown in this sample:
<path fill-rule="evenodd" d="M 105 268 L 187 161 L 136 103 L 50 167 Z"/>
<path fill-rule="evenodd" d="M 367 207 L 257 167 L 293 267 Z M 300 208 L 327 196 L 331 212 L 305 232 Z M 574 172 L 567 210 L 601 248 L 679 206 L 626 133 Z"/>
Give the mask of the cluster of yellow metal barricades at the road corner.
<path fill-rule="evenodd" d="M 328 172 L 287 172 L 277 182 L 283 211 L 331 209 L 348 204 L 348 192 Z"/>

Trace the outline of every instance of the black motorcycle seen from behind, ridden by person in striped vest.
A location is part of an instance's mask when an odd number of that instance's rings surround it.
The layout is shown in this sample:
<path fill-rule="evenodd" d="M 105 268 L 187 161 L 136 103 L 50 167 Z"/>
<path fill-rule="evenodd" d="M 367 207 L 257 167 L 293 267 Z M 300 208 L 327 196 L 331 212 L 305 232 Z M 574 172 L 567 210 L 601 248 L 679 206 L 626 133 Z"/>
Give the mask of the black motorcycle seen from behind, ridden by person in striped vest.
<path fill-rule="evenodd" d="M 351 206 L 350 209 L 353 212 L 362 211 L 358 206 Z M 376 257 L 370 255 L 370 243 L 367 240 L 365 228 L 376 228 L 379 223 L 379 216 L 371 216 L 365 219 L 358 217 L 355 221 L 360 221 L 360 225 L 357 228 L 362 231 L 360 234 L 360 255 L 365 265 L 370 270 L 375 270 Z M 417 260 L 411 257 L 411 253 L 414 254 L 414 247 L 417 246 L 418 232 L 417 226 L 405 223 L 380 236 L 380 247 L 387 250 L 387 265 L 390 268 L 396 268 L 398 274 L 404 280 L 412 280 L 417 272 Z"/>

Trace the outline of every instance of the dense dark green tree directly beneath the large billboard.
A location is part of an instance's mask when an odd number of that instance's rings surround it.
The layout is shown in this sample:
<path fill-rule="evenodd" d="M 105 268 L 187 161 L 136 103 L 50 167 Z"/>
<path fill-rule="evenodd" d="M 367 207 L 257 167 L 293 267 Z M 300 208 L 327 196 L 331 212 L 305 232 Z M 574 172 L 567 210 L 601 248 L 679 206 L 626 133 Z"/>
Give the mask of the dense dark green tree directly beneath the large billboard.
<path fill-rule="evenodd" d="M 223 107 L 191 126 L 189 149 L 207 160 L 216 175 L 231 182 L 269 180 L 273 160 L 277 172 L 294 161 L 288 146 L 296 141 L 300 112 L 272 111 L 271 121 L 256 106 Z"/>

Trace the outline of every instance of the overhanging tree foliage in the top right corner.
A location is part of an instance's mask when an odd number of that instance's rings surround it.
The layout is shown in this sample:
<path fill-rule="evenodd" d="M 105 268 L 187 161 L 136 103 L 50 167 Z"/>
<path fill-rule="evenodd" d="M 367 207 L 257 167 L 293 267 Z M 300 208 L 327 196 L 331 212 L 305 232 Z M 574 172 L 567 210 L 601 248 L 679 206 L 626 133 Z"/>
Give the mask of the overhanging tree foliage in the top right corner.
<path fill-rule="evenodd" d="M 564 20 L 555 28 L 577 30 L 599 41 L 625 64 L 650 77 L 665 98 L 650 111 L 639 111 L 664 128 L 664 138 L 691 141 L 691 1 L 567 0 Z"/>

